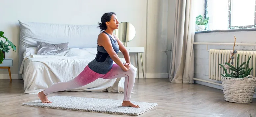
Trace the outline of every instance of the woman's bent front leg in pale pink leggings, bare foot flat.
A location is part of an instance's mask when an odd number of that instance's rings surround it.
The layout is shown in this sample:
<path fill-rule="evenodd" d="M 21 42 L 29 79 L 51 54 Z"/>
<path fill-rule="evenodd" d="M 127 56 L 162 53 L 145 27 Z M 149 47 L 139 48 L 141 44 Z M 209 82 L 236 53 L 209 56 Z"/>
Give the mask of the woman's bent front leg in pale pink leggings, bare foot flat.
<path fill-rule="evenodd" d="M 139 107 L 138 105 L 134 105 L 130 102 L 132 89 L 135 82 L 137 69 L 134 66 L 131 66 L 129 71 L 123 71 L 120 66 L 117 64 L 113 64 L 112 69 L 105 74 L 103 79 L 114 79 L 119 77 L 125 77 L 124 81 L 124 99 L 123 99 L 123 106 L 131 106 L 131 107 Z"/>

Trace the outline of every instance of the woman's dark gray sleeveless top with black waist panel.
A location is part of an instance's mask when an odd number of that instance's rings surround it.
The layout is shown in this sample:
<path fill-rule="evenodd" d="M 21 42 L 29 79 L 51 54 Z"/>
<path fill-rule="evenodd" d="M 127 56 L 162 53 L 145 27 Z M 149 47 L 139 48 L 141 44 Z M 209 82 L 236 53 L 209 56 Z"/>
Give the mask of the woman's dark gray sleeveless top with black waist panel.
<path fill-rule="evenodd" d="M 107 32 L 103 32 L 109 36 L 114 51 L 118 53 L 119 45 L 117 43 L 117 39 L 113 40 L 113 38 Z M 112 58 L 110 58 L 109 54 L 103 46 L 98 45 L 97 51 L 98 52 L 95 59 L 88 64 L 88 67 L 96 73 L 106 74 L 111 70 L 114 61 L 112 60 Z"/>

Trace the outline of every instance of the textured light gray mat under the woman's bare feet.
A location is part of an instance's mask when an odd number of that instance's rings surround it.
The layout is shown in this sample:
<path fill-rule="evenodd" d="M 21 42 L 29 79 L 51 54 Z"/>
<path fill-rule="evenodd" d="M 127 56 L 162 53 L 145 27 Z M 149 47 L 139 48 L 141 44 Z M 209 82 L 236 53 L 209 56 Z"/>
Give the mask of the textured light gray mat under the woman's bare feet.
<path fill-rule="evenodd" d="M 140 115 L 157 105 L 157 103 L 134 102 L 140 108 L 121 106 L 122 100 L 97 99 L 97 98 L 80 98 L 71 96 L 52 96 L 48 97 L 52 103 L 45 104 L 40 100 L 23 103 L 24 106 L 77 110 L 87 112 L 101 112 L 122 115 Z"/>

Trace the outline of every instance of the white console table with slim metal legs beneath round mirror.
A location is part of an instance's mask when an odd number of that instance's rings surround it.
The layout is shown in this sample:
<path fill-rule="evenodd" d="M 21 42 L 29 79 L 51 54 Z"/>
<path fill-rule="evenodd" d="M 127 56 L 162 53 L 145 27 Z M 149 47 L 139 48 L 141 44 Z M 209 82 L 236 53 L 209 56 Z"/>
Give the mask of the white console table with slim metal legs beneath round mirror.
<path fill-rule="evenodd" d="M 140 53 L 140 58 L 141 58 L 141 67 L 142 67 L 142 74 L 143 74 L 143 80 L 144 78 L 144 69 L 143 69 L 143 62 L 142 62 L 142 55 L 141 53 L 145 52 L 144 47 L 125 47 L 129 53 L 136 53 L 137 54 L 137 72 L 138 72 L 138 78 L 139 78 L 139 53 Z M 121 51 L 119 51 L 121 53 Z"/>

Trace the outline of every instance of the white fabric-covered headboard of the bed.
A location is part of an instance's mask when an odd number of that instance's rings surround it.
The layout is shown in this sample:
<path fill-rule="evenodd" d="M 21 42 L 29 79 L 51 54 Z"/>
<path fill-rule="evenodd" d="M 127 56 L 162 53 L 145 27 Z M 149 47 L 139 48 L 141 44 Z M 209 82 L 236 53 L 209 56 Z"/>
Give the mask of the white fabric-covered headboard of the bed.
<path fill-rule="evenodd" d="M 69 25 L 20 21 L 19 69 L 26 48 L 36 47 L 36 41 L 47 43 L 69 42 L 69 47 L 97 47 L 101 33 L 97 25 Z M 19 78 L 22 78 L 19 75 Z"/>

